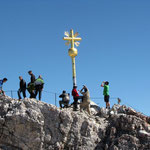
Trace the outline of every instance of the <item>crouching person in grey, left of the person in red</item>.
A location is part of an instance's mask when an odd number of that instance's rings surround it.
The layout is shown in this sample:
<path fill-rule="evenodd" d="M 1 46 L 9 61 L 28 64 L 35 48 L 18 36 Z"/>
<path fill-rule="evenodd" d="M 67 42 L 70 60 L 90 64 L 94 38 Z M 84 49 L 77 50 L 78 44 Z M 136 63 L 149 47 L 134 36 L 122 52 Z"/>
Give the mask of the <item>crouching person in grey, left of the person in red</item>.
<path fill-rule="evenodd" d="M 69 101 L 70 101 L 70 94 L 69 93 L 66 93 L 66 91 L 63 91 L 61 95 L 59 95 L 60 98 L 62 98 L 61 101 L 59 101 L 59 105 L 60 105 L 60 108 L 68 108 L 69 106 Z M 62 105 L 64 105 L 62 107 Z"/>

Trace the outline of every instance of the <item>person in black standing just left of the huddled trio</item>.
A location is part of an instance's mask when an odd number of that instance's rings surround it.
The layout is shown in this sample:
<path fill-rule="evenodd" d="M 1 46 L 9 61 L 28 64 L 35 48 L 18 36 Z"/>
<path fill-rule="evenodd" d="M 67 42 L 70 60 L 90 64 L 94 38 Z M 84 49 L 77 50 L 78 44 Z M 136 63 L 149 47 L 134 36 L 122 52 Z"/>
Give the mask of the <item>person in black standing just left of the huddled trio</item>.
<path fill-rule="evenodd" d="M 23 97 L 26 98 L 26 82 L 25 80 L 23 80 L 21 76 L 19 76 L 19 80 L 20 80 L 20 88 L 18 90 L 18 97 L 19 99 L 22 99 L 21 93 L 23 93 Z"/>

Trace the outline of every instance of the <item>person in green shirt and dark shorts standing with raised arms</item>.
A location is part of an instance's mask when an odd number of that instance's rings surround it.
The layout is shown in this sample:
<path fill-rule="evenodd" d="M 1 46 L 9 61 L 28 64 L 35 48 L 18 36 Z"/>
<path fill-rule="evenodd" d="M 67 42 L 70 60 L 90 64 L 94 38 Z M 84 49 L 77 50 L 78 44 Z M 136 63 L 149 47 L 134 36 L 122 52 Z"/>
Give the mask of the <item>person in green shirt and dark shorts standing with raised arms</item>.
<path fill-rule="evenodd" d="M 106 108 L 110 109 L 110 103 L 109 103 L 109 82 L 103 81 L 101 84 L 101 87 L 104 88 L 103 95 L 104 95 L 104 101 L 106 103 Z"/>

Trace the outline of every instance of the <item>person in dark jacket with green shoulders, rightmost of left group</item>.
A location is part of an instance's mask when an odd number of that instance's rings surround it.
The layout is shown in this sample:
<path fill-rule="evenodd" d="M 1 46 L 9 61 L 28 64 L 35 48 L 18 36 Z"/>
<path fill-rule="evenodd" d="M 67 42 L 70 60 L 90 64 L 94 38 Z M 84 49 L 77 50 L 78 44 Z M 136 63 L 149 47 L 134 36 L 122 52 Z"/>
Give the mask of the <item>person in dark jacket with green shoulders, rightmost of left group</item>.
<path fill-rule="evenodd" d="M 35 80 L 34 86 L 35 86 L 35 97 L 39 93 L 39 100 L 41 100 L 42 90 L 44 88 L 44 81 L 41 75 Z"/>

